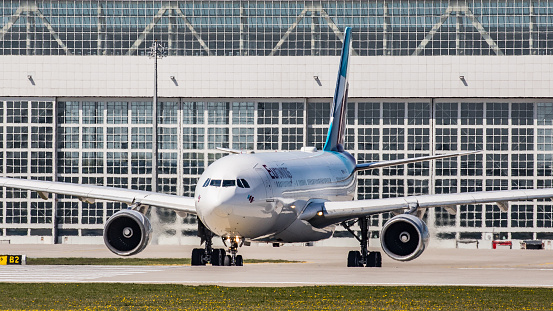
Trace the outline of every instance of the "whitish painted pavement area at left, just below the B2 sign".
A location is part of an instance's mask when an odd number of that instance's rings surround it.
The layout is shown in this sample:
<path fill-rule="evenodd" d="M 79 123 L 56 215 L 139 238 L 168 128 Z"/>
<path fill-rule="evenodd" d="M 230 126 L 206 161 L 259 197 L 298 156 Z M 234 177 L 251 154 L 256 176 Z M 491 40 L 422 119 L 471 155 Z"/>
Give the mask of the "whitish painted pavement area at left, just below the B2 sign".
<path fill-rule="evenodd" d="M 0 282 L 84 282 L 132 274 L 159 272 L 148 266 L 4 266 Z"/>

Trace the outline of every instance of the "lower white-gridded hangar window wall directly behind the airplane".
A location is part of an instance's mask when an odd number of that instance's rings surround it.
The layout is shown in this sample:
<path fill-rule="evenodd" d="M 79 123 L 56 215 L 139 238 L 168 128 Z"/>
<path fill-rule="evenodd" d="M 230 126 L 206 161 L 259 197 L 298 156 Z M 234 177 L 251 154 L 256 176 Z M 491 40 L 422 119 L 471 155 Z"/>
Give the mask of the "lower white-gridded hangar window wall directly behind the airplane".
<path fill-rule="evenodd" d="M 225 155 L 215 147 L 261 152 L 309 145 L 320 150 L 330 100 L 162 99 L 157 130 L 149 100 L 4 99 L 0 106 L 3 176 L 152 190 L 157 170 L 158 191 L 192 196 L 204 169 Z M 361 172 L 357 197 L 552 187 L 551 107 L 543 100 L 352 99 L 346 147 L 359 162 L 483 151 Z M 159 156 L 153 163 L 156 132 Z M 107 218 L 124 208 L 64 196 L 57 196 L 54 205 L 36 193 L 13 189 L 0 194 L 0 228 L 8 237 L 52 236 L 54 228 L 60 237 L 98 236 Z M 501 228 L 507 238 L 539 238 L 553 219 L 550 206 L 539 200 L 513 203 L 508 213 L 495 205 L 456 208 L 457 215 L 430 209 L 431 231 L 442 238 L 478 238 Z M 150 217 L 172 228 L 169 235 L 195 236 L 194 217 L 159 209 Z M 372 216 L 371 236 L 378 237 L 389 218 Z M 338 236 L 347 235 L 339 231 Z"/>

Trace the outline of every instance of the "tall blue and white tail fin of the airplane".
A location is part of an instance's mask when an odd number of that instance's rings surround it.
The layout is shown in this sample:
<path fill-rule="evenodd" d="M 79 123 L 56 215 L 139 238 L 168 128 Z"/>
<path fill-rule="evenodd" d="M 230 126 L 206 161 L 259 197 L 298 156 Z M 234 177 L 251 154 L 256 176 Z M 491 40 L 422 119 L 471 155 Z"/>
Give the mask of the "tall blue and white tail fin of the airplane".
<path fill-rule="evenodd" d="M 330 111 L 330 127 L 326 136 L 324 151 L 344 151 L 344 139 L 346 135 L 346 112 L 348 103 L 348 64 L 351 55 L 351 28 L 344 31 L 344 43 L 342 56 L 340 56 L 340 68 L 336 79 L 336 90 L 332 100 Z"/>

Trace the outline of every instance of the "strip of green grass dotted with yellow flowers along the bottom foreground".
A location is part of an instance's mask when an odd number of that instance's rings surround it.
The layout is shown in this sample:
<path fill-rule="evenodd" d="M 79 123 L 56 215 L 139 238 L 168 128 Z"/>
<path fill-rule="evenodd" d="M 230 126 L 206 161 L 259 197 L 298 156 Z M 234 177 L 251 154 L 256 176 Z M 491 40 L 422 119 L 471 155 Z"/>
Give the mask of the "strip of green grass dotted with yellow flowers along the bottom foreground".
<path fill-rule="evenodd" d="M 0 283 L 0 309 L 551 310 L 553 289 Z"/>

